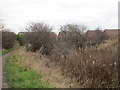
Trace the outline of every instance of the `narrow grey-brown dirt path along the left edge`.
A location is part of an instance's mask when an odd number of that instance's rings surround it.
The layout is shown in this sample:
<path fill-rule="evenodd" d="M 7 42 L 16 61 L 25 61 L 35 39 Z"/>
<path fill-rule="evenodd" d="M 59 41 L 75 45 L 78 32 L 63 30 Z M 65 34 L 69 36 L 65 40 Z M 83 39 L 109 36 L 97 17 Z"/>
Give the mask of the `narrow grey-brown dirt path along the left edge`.
<path fill-rule="evenodd" d="M 0 87 L 2 88 L 8 88 L 8 84 L 6 83 L 6 77 L 5 77 L 5 71 L 4 71 L 4 65 L 6 63 L 6 60 L 7 58 L 12 55 L 12 52 L 11 53 L 8 53 L 8 54 L 5 54 L 3 55 L 2 57 L 0 57 L 0 76 L 1 76 L 1 80 L 2 81 L 2 84 Z"/>

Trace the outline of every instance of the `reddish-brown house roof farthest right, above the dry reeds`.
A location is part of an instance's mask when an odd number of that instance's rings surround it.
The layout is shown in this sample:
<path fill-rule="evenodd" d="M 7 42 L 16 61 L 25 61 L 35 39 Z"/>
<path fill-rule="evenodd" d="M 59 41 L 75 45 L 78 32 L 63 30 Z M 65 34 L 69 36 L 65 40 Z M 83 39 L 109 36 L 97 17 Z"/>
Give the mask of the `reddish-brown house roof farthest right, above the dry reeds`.
<path fill-rule="evenodd" d="M 103 32 L 103 34 L 108 39 L 113 39 L 115 37 L 118 37 L 118 30 L 119 29 L 105 29 L 104 32 Z"/>

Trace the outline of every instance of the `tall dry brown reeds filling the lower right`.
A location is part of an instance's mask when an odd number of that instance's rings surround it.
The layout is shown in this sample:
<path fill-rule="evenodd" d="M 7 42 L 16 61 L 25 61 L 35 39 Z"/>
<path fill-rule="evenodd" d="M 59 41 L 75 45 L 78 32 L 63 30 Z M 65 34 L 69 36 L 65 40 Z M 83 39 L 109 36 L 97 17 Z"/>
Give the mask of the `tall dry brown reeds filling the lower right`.
<path fill-rule="evenodd" d="M 80 88 L 118 87 L 118 41 L 88 47 L 81 53 L 69 50 L 66 58 L 58 47 L 52 60 L 61 66 L 63 75 L 75 79 Z"/>

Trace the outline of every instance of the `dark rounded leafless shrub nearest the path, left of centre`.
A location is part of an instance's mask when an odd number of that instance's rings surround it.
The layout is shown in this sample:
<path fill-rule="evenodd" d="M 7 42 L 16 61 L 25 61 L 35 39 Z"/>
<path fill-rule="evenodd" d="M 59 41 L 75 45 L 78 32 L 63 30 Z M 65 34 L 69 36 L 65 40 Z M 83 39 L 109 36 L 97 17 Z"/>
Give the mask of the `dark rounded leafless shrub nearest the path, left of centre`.
<path fill-rule="evenodd" d="M 30 46 L 29 50 L 50 54 L 54 43 L 51 30 L 52 28 L 44 23 L 31 23 L 27 28 L 28 33 L 25 35 L 27 45 Z"/>

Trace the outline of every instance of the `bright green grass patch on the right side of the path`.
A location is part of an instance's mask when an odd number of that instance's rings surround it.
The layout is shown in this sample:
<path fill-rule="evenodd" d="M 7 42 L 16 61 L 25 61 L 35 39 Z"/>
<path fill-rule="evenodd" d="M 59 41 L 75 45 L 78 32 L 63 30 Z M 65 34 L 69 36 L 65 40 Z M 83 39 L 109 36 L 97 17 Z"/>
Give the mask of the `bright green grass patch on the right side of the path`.
<path fill-rule="evenodd" d="M 42 78 L 42 74 L 32 69 L 24 70 L 18 65 L 19 58 L 15 55 L 10 56 L 6 63 L 6 77 L 11 88 L 54 88 Z"/>

